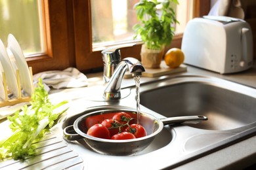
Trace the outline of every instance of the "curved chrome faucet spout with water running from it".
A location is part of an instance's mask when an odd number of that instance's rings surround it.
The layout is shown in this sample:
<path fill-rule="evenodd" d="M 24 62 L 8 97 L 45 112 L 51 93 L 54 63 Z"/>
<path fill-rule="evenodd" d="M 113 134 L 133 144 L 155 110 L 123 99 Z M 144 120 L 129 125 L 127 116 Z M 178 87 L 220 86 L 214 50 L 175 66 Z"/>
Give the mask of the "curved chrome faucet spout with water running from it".
<path fill-rule="evenodd" d="M 121 98 L 121 82 L 127 69 L 133 77 L 140 76 L 142 72 L 145 71 L 143 65 L 138 59 L 124 58 L 119 62 L 113 75 L 106 84 L 106 88 L 104 90 L 104 98 L 106 100 L 116 100 Z"/>

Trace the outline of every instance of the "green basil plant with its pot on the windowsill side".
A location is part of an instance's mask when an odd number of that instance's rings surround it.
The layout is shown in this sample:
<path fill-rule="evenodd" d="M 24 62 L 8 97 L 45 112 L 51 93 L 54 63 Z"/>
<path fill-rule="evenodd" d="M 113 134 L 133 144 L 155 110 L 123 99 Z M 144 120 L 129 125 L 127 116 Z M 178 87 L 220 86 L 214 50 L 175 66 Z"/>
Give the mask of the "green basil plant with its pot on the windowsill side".
<path fill-rule="evenodd" d="M 135 4 L 139 24 L 135 24 L 135 39 L 140 36 L 142 48 L 141 62 L 146 68 L 159 68 L 163 59 L 164 47 L 171 44 L 174 35 L 172 24 L 178 23 L 175 11 L 170 3 L 178 4 L 177 0 L 140 0 Z M 157 5 L 161 8 L 158 10 Z"/>

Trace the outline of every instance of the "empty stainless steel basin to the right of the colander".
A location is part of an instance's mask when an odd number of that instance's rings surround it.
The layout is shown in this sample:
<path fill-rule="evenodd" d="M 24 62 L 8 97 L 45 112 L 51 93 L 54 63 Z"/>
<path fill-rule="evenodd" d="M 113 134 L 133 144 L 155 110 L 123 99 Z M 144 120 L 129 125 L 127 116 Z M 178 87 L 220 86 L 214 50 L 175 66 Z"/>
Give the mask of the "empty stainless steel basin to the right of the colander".
<path fill-rule="evenodd" d="M 142 86 L 140 103 L 163 116 L 202 114 L 200 129 L 235 129 L 256 122 L 256 90 L 219 78 L 182 76 Z"/>

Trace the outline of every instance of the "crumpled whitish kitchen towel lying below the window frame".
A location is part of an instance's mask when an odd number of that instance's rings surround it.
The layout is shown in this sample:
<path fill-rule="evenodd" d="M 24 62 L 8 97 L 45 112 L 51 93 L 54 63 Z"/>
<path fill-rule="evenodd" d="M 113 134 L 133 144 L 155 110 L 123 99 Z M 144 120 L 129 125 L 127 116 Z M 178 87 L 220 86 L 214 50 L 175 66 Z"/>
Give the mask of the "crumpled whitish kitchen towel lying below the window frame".
<path fill-rule="evenodd" d="M 41 78 L 43 84 L 49 88 L 80 88 L 88 85 L 87 76 L 75 69 L 69 67 L 63 71 L 45 71 L 33 75 L 34 82 Z"/>

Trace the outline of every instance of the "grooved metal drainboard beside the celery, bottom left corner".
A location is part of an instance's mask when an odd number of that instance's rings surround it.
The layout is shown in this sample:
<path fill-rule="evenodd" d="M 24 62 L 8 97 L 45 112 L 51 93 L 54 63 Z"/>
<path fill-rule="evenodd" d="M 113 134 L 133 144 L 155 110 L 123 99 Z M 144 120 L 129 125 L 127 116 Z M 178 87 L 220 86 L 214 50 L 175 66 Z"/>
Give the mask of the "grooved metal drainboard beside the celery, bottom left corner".
<path fill-rule="evenodd" d="M 74 165 L 83 167 L 83 160 L 64 141 L 49 135 L 34 143 L 37 147 L 36 156 L 21 160 L 5 160 L 0 163 L 0 169 L 66 169 Z"/>

